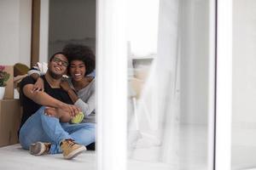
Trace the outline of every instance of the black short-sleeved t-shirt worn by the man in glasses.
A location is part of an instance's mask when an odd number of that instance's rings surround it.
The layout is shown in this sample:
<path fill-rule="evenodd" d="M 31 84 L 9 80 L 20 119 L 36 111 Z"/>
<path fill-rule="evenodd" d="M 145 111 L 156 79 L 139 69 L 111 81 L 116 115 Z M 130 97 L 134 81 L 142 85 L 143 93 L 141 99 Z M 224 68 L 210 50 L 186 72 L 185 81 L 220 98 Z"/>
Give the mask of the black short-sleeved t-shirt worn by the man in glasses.
<path fill-rule="evenodd" d="M 49 94 L 55 99 L 59 99 L 62 102 L 66 104 L 73 105 L 72 100 L 70 99 L 69 95 L 65 90 L 62 88 L 51 88 L 49 86 L 49 83 L 46 81 L 45 77 L 42 76 L 44 80 L 44 92 Z M 26 86 L 26 84 L 34 84 L 36 81 L 32 77 L 25 77 L 20 82 L 20 104 L 23 106 L 23 115 L 21 118 L 20 127 L 26 122 L 28 117 L 32 116 L 42 105 L 38 105 L 32 99 L 29 99 L 26 97 L 26 95 L 23 94 L 23 87 Z"/>

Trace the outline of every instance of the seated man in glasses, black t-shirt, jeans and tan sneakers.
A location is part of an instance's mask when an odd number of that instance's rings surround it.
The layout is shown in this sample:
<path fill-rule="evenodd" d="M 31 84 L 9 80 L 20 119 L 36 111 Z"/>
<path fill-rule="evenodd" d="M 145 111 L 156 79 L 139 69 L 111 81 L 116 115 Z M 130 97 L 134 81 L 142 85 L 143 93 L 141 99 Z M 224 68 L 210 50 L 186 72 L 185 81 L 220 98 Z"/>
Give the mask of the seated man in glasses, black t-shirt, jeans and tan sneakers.
<path fill-rule="evenodd" d="M 79 108 L 73 105 L 61 88 L 61 77 L 67 71 L 67 57 L 56 53 L 49 59 L 44 80 L 44 92 L 33 91 L 35 80 L 26 77 L 20 82 L 23 106 L 19 140 L 23 149 L 35 156 L 63 153 L 72 159 L 95 142 L 95 127 L 91 123 L 71 124 Z"/>

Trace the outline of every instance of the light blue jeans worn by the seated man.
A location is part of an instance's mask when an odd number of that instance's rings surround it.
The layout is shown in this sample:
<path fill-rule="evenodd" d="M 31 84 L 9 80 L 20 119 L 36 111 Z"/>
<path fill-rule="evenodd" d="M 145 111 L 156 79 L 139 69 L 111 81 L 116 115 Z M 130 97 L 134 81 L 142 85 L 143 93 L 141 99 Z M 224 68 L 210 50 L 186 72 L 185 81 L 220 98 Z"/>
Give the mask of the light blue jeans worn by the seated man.
<path fill-rule="evenodd" d="M 57 154 L 62 152 L 60 144 L 64 139 L 74 139 L 85 146 L 95 142 L 94 123 L 61 123 L 58 118 L 44 115 L 44 109 L 42 106 L 20 128 L 19 140 L 23 149 L 28 150 L 30 144 L 38 141 L 49 142 L 49 153 Z"/>

